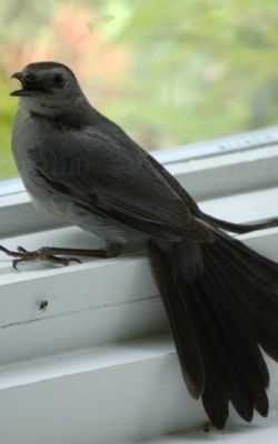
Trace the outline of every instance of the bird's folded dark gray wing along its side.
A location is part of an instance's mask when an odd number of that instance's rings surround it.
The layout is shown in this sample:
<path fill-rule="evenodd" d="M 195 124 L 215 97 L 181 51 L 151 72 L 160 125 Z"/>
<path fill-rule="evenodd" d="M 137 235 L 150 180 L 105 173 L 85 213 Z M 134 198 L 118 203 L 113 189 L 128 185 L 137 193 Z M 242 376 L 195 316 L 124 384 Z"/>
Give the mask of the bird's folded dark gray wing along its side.
<path fill-rule="evenodd" d="M 92 213 L 161 239 L 206 241 L 211 236 L 149 155 L 128 137 L 60 131 L 29 157 L 37 179 L 51 192 Z"/>

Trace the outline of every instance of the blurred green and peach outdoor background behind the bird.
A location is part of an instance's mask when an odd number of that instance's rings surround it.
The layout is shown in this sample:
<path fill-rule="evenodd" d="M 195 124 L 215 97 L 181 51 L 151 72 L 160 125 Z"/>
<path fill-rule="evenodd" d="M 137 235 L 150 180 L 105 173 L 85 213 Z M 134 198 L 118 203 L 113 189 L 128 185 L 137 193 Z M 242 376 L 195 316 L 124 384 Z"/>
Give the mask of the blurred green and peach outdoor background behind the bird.
<path fill-rule="evenodd" d="M 92 104 L 157 150 L 277 123 L 277 0 L 9 0 L 0 4 L 0 179 L 27 63 L 61 61 Z"/>

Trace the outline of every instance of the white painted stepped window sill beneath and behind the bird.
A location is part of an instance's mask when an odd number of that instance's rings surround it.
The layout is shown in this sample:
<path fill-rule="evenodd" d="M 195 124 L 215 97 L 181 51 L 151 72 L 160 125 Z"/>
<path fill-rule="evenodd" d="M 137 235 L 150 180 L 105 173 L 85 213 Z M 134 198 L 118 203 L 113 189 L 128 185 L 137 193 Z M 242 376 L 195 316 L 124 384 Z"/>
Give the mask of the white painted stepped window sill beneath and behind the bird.
<path fill-rule="evenodd" d="M 278 215 L 278 145 L 173 163 L 168 158 L 168 168 L 210 214 L 240 222 Z M 0 199 L 0 243 L 7 248 L 95 245 L 90 234 L 58 224 L 37 213 L 24 192 Z M 278 261 L 278 229 L 241 239 Z M 20 270 L 16 273 L 10 260 L 0 256 L 0 424 L 6 444 L 143 442 L 206 422 L 201 404 L 183 386 L 145 258 Z M 278 365 L 268 362 L 275 412 Z M 268 431 L 277 435 L 274 417 L 244 426 L 231 415 L 235 433 L 188 432 L 153 443 L 202 436 L 256 442 L 254 430 L 261 438 Z"/>

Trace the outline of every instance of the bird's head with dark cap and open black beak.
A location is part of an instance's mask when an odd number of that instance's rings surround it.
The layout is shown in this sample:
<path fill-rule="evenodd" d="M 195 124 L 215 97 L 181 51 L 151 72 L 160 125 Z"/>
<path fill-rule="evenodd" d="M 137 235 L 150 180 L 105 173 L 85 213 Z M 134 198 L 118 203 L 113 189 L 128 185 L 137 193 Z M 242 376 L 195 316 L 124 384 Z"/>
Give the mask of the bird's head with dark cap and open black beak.
<path fill-rule="evenodd" d="M 42 115 L 59 115 L 85 100 L 76 75 L 62 63 L 30 63 L 11 77 L 21 88 L 10 95 L 19 97 L 24 108 Z"/>

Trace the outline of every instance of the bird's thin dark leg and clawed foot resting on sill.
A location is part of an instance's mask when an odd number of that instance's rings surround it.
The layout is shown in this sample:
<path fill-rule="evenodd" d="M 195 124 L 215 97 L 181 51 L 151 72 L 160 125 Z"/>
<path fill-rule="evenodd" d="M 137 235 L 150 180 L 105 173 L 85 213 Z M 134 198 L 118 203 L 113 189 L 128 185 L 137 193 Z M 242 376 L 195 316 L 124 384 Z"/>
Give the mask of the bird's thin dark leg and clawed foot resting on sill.
<path fill-rule="evenodd" d="M 76 256 L 103 259 L 116 258 L 122 252 L 122 248 L 118 243 L 110 243 L 106 249 L 98 250 L 42 246 L 34 251 L 27 251 L 22 246 L 18 246 L 17 251 L 12 251 L 0 245 L 0 251 L 8 254 L 9 256 L 16 258 L 12 261 L 12 266 L 13 269 L 18 270 L 17 265 L 20 262 L 48 261 L 61 265 L 69 265 L 70 262 L 81 263 L 81 261 Z"/>

